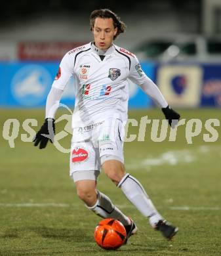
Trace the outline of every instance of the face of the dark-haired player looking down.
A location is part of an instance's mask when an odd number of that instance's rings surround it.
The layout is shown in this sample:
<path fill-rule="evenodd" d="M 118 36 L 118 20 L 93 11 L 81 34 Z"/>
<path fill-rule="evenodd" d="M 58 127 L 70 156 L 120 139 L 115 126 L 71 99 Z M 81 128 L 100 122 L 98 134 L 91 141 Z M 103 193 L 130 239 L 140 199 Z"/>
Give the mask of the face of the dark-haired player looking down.
<path fill-rule="evenodd" d="M 96 18 L 92 32 L 96 47 L 106 50 L 111 46 L 117 28 L 114 28 L 112 18 Z"/>

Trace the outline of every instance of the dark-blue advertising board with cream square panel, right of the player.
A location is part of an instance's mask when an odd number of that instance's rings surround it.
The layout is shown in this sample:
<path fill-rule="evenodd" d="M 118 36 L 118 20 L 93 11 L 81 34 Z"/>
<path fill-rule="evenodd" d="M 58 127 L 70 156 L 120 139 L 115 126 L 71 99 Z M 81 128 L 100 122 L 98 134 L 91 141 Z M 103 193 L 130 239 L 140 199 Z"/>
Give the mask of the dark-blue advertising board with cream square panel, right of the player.
<path fill-rule="evenodd" d="M 171 106 L 221 106 L 221 64 L 159 65 L 157 85 Z"/>

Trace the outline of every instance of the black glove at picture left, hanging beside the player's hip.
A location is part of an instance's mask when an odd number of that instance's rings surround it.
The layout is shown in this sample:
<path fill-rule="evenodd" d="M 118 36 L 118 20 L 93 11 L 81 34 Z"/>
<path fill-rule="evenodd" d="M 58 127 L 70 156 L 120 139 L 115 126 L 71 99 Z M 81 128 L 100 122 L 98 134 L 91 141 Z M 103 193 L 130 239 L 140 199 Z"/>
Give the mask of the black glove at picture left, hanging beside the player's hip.
<path fill-rule="evenodd" d="M 39 148 L 45 148 L 47 146 L 47 142 L 54 141 L 54 134 L 55 134 L 55 124 L 54 119 L 46 118 L 45 123 L 41 126 L 41 129 L 35 135 L 33 142 L 35 142 L 34 146 L 37 146 L 39 143 Z M 45 136 L 44 136 L 45 135 Z"/>

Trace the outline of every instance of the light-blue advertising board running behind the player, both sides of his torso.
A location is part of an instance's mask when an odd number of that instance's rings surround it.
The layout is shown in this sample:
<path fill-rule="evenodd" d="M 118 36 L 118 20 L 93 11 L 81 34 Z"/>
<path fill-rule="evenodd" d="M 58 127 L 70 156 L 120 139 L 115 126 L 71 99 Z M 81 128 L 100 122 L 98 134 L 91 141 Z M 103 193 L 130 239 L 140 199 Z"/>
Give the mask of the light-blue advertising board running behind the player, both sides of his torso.
<path fill-rule="evenodd" d="M 50 87 L 58 70 L 58 62 L 1 62 L 0 106 L 36 108 L 44 107 Z M 142 68 L 153 79 L 155 66 L 144 63 Z M 130 82 L 129 108 L 147 108 L 151 99 L 138 85 Z M 73 78 L 70 79 L 61 102 L 74 106 Z"/>

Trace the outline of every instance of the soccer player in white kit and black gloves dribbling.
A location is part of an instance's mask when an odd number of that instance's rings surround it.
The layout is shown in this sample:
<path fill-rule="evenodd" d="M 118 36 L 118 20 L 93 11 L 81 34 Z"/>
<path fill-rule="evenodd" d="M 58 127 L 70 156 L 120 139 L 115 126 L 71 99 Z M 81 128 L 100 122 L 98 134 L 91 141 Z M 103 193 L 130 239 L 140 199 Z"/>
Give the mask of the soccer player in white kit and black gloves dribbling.
<path fill-rule="evenodd" d="M 127 239 L 137 231 L 136 224 L 98 191 L 100 168 L 121 188 L 127 199 L 148 218 L 155 230 L 171 240 L 178 228 L 166 221 L 151 202 L 142 184 L 125 171 L 123 159 L 123 123 L 127 121 L 129 84 L 140 85 L 162 109 L 171 125 L 176 113 L 158 87 L 142 71 L 136 56 L 113 44 L 125 32 L 125 24 L 109 9 L 90 14 L 90 30 L 94 41 L 66 53 L 52 83 L 46 104 L 45 123 L 37 133 L 35 146 L 45 148 L 54 136 L 54 116 L 62 93 L 73 75 L 76 89 L 72 117 L 70 175 L 77 195 L 90 211 L 102 218 L 121 221 Z"/>

